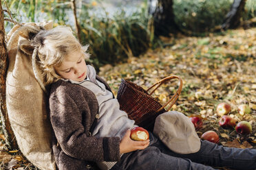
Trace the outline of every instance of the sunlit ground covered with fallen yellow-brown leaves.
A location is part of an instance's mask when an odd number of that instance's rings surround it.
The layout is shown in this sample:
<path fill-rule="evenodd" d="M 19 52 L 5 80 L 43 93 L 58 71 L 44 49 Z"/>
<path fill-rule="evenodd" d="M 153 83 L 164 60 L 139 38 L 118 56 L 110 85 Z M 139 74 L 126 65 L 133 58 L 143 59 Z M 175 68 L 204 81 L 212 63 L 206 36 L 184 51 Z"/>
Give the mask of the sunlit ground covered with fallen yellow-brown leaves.
<path fill-rule="evenodd" d="M 219 145 L 256 149 L 256 28 L 228 30 L 207 37 L 162 38 L 162 41 L 168 46 L 149 50 L 117 66 L 107 64 L 100 68 L 99 75 L 110 84 L 114 95 L 122 78 L 147 89 L 164 77 L 178 75 L 183 88 L 171 110 L 188 117 L 201 117 L 203 126 L 198 136 L 213 130 L 220 136 Z M 154 96 L 164 104 L 177 88 L 178 81 L 164 84 Z M 216 106 L 222 102 L 231 104 L 229 115 L 237 123 L 248 121 L 253 132 L 240 135 L 235 128 L 220 127 Z M 240 104 L 248 104 L 252 112 L 241 116 L 237 112 Z M 19 150 L 1 150 L 2 169 L 35 169 Z"/>

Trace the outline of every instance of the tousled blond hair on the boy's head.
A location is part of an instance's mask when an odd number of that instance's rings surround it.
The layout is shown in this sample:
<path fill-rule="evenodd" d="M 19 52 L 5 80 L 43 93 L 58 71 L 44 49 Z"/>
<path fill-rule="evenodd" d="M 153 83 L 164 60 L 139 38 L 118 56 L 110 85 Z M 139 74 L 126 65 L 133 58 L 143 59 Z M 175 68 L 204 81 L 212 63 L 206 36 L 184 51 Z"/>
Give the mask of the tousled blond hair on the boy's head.
<path fill-rule="evenodd" d="M 88 45 L 82 47 L 70 27 L 58 26 L 50 30 L 42 30 L 32 38 L 32 45 L 35 48 L 32 59 L 35 62 L 38 56 L 45 85 L 61 79 L 54 66 L 59 66 L 68 54 L 81 50 L 85 53 L 85 59 L 89 58 L 89 53 L 86 52 Z M 36 72 L 36 68 L 33 69 Z"/>

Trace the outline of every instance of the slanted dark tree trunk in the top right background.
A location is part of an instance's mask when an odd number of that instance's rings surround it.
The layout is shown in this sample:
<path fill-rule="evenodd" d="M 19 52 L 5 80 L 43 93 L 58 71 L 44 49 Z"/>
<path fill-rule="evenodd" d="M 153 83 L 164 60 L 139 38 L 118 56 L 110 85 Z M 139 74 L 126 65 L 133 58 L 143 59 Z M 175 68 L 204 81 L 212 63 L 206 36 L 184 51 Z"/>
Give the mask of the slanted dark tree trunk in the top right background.
<path fill-rule="evenodd" d="M 234 0 L 230 12 L 226 14 L 222 29 L 233 29 L 239 26 L 246 0 Z"/>

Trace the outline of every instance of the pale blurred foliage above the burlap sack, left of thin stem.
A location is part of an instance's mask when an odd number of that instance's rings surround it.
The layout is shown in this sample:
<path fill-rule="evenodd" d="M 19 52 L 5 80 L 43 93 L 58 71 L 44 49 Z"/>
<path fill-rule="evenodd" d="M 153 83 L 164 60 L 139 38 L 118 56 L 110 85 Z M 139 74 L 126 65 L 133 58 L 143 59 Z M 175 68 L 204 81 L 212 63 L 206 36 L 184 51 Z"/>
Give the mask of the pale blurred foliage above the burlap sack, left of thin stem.
<path fill-rule="evenodd" d="M 69 21 L 73 19 L 70 17 L 72 16 L 71 3 L 68 0 L 6 0 L 6 3 L 12 16 L 21 23 L 52 20 L 58 25 L 70 25 Z"/>

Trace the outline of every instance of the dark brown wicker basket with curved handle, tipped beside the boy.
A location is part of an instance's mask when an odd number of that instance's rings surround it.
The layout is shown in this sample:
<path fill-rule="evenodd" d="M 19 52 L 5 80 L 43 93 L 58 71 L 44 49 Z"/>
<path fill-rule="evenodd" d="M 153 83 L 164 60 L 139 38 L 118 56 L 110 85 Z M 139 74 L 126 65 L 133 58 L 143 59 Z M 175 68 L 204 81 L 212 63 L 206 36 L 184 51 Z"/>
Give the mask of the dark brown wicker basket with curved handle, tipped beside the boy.
<path fill-rule="evenodd" d="M 169 99 L 166 104 L 161 105 L 151 95 L 159 86 L 173 79 L 180 80 L 180 86 L 171 99 Z M 149 90 L 151 90 L 151 93 L 149 93 Z M 147 130 L 153 130 L 156 117 L 171 109 L 175 101 L 177 101 L 181 90 L 182 80 L 180 77 L 175 75 L 165 77 L 153 84 L 147 90 L 132 82 L 122 79 L 118 89 L 117 99 L 120 104 L 120 110 L 127 112 L 129 119 L 133 119 L 136 125 L 139 125 L 140 127 L 144 127 Z M 169 105 L 169 107 L 164 109 L 167 105 Z"/>

